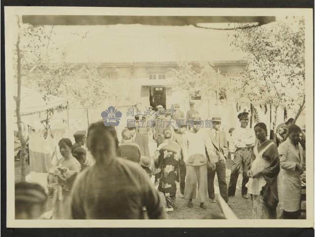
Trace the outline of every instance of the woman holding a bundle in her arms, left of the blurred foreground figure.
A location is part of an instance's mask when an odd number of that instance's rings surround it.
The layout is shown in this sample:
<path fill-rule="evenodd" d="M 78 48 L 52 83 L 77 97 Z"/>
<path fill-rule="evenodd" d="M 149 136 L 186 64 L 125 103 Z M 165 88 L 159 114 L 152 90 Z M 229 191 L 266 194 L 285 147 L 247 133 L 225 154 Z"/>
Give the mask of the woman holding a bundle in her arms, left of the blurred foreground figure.
<path fill-rule="evenodd" d="M 69 138 L 61 139 L 58 145 L 63 158 L 48 173 L 48 192 L 53 198 L 52 218 L 70 219 L 70 190 L 81 165 L 72 156 L 72 142 Z"/>

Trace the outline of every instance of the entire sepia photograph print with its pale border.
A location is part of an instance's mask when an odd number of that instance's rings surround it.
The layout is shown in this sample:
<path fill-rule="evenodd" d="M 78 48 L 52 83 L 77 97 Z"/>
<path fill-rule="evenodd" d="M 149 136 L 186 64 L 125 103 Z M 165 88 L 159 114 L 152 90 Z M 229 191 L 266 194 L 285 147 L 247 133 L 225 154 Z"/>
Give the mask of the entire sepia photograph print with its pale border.
<path fill-rule="evenodd" d="M 314 228 L 312 9 L 4 13 L 8 227 Z"/>

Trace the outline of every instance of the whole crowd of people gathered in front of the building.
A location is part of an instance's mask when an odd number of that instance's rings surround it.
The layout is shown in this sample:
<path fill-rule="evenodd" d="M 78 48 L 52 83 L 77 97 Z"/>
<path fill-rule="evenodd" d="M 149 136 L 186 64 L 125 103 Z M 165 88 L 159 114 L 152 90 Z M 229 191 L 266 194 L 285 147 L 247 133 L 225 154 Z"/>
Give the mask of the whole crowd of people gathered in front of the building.
<path fill-rule="evenodd" d="M 136 123 L 122 131 L 121 141 L 115 127 L 102 121 L 90 125 L 87 133 L 76 132 L 74 144 L 61 139 L 63 158 L 49 171 L 48 194 L 36 184 L 16 184 L 16 219 L 40 218 L 47 195 L 52 219 L 163 219 L 176 211 L 177 186 L 187 208 L 198 200 L 200 208 L 211 211 L 206 201 L 216 203 L 216 174 L 220 195 L 229 203 L 240 173 L 241 195 L 252 199 L 253 219 L 299 218 L 305 142 L 291 119 L 276 142 L 268 139 L 266 124 L 249 128 L 248 112 L 241 112 L 240 127 L 225 135 L 220 116 L 211 119 L 210 128 L 201 128 L 193 102 L 186 117 L 178 104 L 172 105 L 172 112 L 162 105 L 157 106 L 158 113 L 152 107 L 150 111 L 135 116 Z M 153 123 L 137 126 L 146 121 Z M 156 142 L 153 154 L 150 140 Z M 228 184 L 227 159 L 232 160 Z M 165 197 L 165 207 L 158 191 Z"/>

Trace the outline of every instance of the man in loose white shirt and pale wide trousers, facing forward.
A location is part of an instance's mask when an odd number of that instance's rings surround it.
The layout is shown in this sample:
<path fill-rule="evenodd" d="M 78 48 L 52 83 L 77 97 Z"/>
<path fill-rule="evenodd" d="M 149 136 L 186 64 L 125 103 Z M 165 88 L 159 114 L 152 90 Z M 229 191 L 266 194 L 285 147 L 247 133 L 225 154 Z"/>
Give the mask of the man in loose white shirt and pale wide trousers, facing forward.
<path fill-rule="evenodd" d="M 198 196 L 200 208 L 207 209 L 204 202 L 207 198 L 207 165 L 214 169 L 218 158 L 210 137 L 200 129 L 200 118 L 193 118 L 193 126 L 190 132 L 183 136 L 183 157 L 186 164 L 186 184 L 184 198 L 188 200 L 188 207 L 192 207 L 192 199 L 196 198 L 198 183 Z M 206 157 L 206 149 L 209 160 Z"/>

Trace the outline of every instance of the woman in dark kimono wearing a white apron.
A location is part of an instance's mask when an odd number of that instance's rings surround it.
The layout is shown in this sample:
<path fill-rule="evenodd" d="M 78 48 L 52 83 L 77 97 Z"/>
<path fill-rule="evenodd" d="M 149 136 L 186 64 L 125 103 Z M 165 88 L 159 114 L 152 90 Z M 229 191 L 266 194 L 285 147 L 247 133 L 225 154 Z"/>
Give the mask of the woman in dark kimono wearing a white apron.
<path fill-rule="evenodd" d="M 252 219 L 276 219 L 278 205 L 277 176 L 280 160 L 276 144 L 267 139 L 267 127 L 254 127 L 257 142 L 253 147 L 252 168 L 248 175 L 248 193 L 252 196 Z"/>

